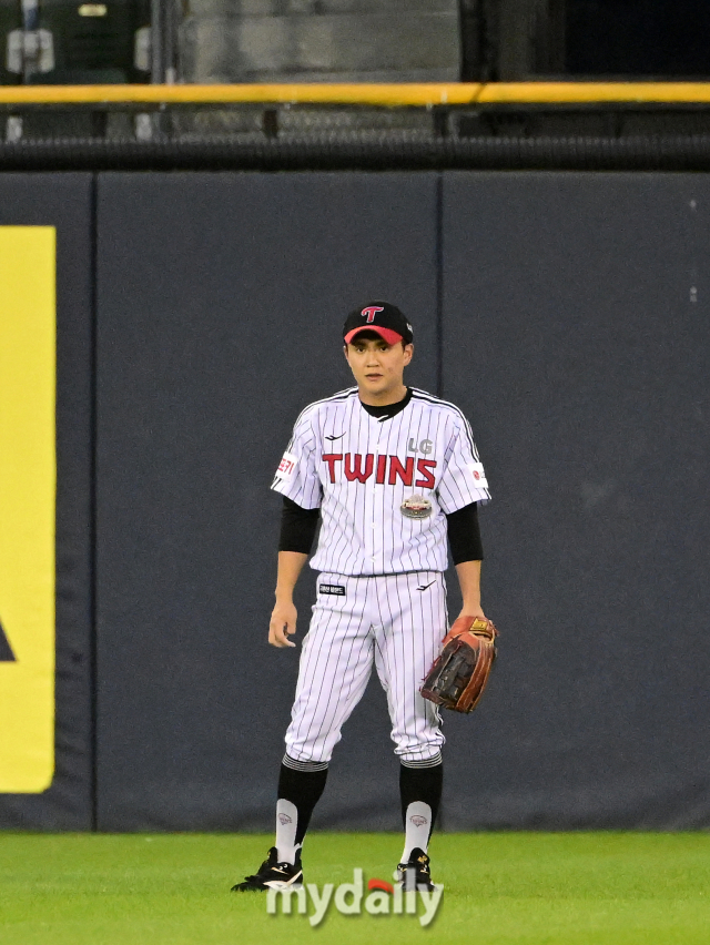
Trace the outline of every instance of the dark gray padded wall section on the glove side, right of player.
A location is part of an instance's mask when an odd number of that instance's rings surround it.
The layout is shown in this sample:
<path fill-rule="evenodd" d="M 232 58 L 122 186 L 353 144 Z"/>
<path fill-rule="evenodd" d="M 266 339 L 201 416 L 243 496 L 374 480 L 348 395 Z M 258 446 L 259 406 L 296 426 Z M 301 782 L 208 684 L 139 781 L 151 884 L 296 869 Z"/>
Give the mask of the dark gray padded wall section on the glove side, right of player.
<path fill-rule="evenodd" d="M 452 173 L 444 201 L 501 629 L 446 825 L 707 827 L 710 181 Z"/>

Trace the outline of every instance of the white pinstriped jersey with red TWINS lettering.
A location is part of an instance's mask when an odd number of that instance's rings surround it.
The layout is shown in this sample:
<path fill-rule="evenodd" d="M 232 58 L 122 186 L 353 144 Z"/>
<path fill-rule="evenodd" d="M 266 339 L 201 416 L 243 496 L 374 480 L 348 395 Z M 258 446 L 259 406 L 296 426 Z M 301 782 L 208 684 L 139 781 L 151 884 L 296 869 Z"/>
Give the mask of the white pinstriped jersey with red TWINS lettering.
<path fill-rule="evenodd" d="M 445 515 L 490 498 L 462 411 L 416 388 L 394 417 L 368 414 L 357 387 L 310 404 L 272 489 L 321 509 L 311 567 L 348 576 L 445 571 Z"/>

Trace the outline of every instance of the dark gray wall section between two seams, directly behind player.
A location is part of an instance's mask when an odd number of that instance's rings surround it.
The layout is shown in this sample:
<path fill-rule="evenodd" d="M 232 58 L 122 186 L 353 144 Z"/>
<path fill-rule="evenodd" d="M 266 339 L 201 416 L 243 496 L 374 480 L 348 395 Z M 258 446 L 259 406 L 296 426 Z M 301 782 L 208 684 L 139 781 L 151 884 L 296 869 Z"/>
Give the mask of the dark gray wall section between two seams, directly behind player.
<path fill-rule="evenodd" d="M 352 384 L 339 332 L 361 299 L 416 313 L 413 379 L 435 385 L 436 184 L 102 175 L 100 829 L 271 824 L 297 659 L 266 643 L 268 486 L 302 407 Z M 388 730 L 376 692 L 346 729 L 321 826 L 396 825 Z"/>

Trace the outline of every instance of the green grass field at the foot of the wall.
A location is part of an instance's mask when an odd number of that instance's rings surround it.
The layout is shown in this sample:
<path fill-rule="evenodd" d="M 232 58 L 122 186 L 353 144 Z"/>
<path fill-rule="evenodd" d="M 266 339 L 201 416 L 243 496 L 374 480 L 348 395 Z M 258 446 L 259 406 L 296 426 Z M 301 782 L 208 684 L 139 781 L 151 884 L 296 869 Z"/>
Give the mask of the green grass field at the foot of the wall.
<path fill-rule="evenodd" d="M 229 888 L 270 844 L 253 834 L 0 834 L 0 943 L 710 942 L 709 834 L 439 834 L 433 876 L 445 891 L 426 928 L 413 915 L 333 906 L 315 928 L 306 915 L 267 915 L 265 896 Z M 400 852 L 396 834 L 314 833 L 305 878 L 337 885 L 361 866 L 365 880 L 388 880 Z"/>

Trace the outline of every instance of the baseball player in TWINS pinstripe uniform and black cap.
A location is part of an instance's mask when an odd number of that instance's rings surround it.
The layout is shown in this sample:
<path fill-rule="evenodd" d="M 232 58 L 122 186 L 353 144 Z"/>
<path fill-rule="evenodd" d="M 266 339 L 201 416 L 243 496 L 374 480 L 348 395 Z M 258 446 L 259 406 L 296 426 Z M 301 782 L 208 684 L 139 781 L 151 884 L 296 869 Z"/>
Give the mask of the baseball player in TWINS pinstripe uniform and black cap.
<path fill-rule="evenodd" d="M 488 484 L 460 410 L 405 386 L 414 346 L 403 313 L 373 302 L 351 313 L 343 338 L 357 386 L 303 410 L 272 485 L 284 508 L 270 643 L 295 646 L 293 590 L 320 519 L 311 561 L 320 572 L 317 600 L 286 732 L 275 845 L 234 891 L 303 883 L 308 822 L 373 665 L 400 762 L 398 877 L 407 888 L 434 888 L 427 847 L 442 796 L 444 735 L 437 708 L 418 690 L 447 632 L 447 539 L 462 613 L 485 619 L 477 504 L 489 499 Z"/>

